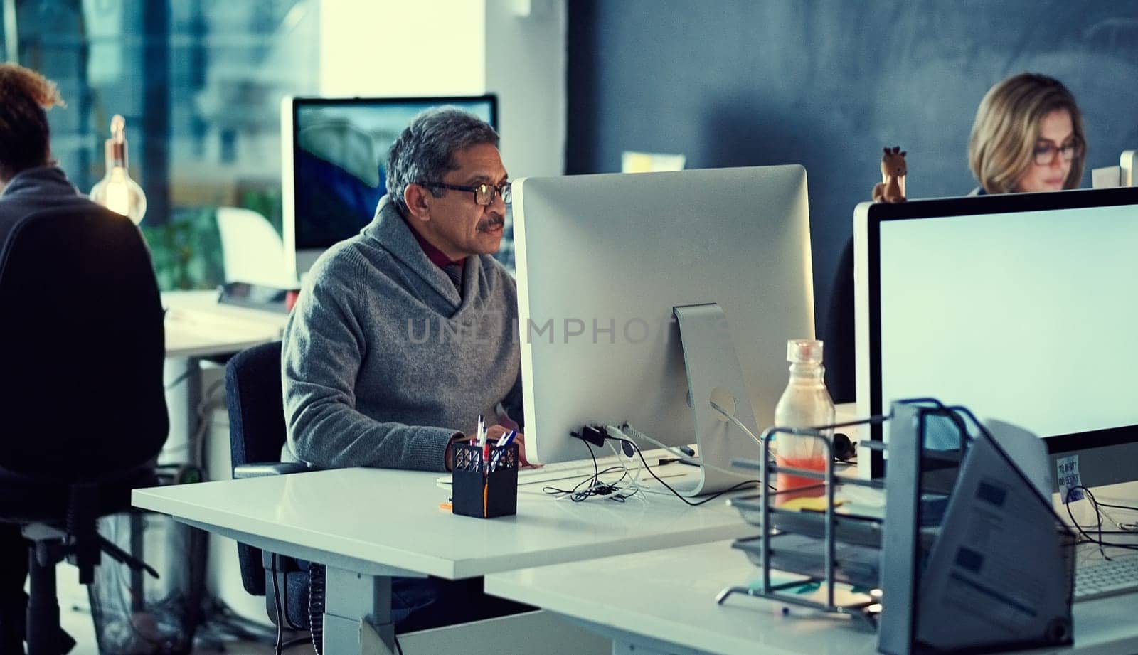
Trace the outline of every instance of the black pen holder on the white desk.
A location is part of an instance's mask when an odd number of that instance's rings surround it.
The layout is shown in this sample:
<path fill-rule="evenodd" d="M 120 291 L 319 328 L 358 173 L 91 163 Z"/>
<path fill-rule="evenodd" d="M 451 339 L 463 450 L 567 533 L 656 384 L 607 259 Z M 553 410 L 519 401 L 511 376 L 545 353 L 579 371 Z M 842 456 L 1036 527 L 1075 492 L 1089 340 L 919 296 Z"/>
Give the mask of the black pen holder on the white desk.
<path fill-rule="evenodd" d="M 493 519 L 518 513 L 518 446 L 490 448 L 489 462 L 478 446 L 455 445 L 451 472 L 452 512 Z"/>

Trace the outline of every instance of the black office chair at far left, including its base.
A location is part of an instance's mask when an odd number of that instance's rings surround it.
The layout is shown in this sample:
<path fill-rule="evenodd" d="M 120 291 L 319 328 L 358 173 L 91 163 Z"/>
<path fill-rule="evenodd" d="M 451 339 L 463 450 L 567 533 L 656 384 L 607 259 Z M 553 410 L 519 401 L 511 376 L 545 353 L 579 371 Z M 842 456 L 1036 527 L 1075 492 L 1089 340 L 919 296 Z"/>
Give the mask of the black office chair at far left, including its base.
<path fill-rule="evenodd" d="M 56 564 L 76 564 L 84 584 L 100 552 L 143 566 L 96 532 L 99 516 L 130 507 L 131 489 L 156 483 L 170 428 L 141 233 L 77 199 L 22 219 L 0 246 L 0 522 L 34 544 L 28 653 L 57 655 L 74 641 L 59 628 Z"/>

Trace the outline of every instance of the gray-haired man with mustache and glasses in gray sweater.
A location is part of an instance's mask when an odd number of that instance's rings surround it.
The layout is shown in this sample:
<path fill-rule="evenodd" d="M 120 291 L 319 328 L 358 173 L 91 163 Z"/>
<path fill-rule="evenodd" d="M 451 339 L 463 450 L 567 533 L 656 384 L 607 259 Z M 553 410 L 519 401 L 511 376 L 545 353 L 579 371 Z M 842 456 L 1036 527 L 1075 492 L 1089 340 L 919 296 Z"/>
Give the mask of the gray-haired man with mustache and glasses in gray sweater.
<path fill-rule="evenodd" d="M 479 415 L 489 439 L 521 423 L 517 288 L 490 256 L 510 201 L 497 144 L 442 107 L 391 146 L 376 217 L 316 260 L 289 317 L 282 459 L 445 471 Z M 478 584 L 396 579 L 393 591 L 399 631 L 501 613 Z"/>

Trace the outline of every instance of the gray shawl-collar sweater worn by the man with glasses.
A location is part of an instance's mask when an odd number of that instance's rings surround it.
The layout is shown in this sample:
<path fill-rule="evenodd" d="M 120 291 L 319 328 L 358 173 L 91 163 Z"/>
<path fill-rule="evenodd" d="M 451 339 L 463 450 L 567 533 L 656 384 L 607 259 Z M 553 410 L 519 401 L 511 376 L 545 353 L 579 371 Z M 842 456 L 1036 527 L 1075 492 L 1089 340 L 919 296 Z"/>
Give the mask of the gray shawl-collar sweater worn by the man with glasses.
<path fill-rule="evenodd" d="M 520 420 L 517 288 L 488 255 L 462 293 L 385 196 L 374 219 L 313 265 L 284 330 L 284 461 L 445 470 L 446 445 Z"/>

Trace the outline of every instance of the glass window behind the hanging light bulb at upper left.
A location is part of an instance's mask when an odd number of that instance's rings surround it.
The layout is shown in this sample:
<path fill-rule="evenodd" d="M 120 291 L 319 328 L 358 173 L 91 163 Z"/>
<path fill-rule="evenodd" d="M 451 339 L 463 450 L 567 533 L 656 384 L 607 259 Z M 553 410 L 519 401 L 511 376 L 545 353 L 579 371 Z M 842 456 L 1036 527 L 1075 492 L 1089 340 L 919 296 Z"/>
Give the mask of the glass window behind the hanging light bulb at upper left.
<path fill-rule="evenodd" d="M 280 99 L 319 91 L 318 0 L 15 5 L 19 63 L 67 102 L 48 113 L 52 155 L 80 190 L 104 175 L 110 117 L 126 118 L 163 289 L 222 282 L 217 207 L 280 232 Z"/>

